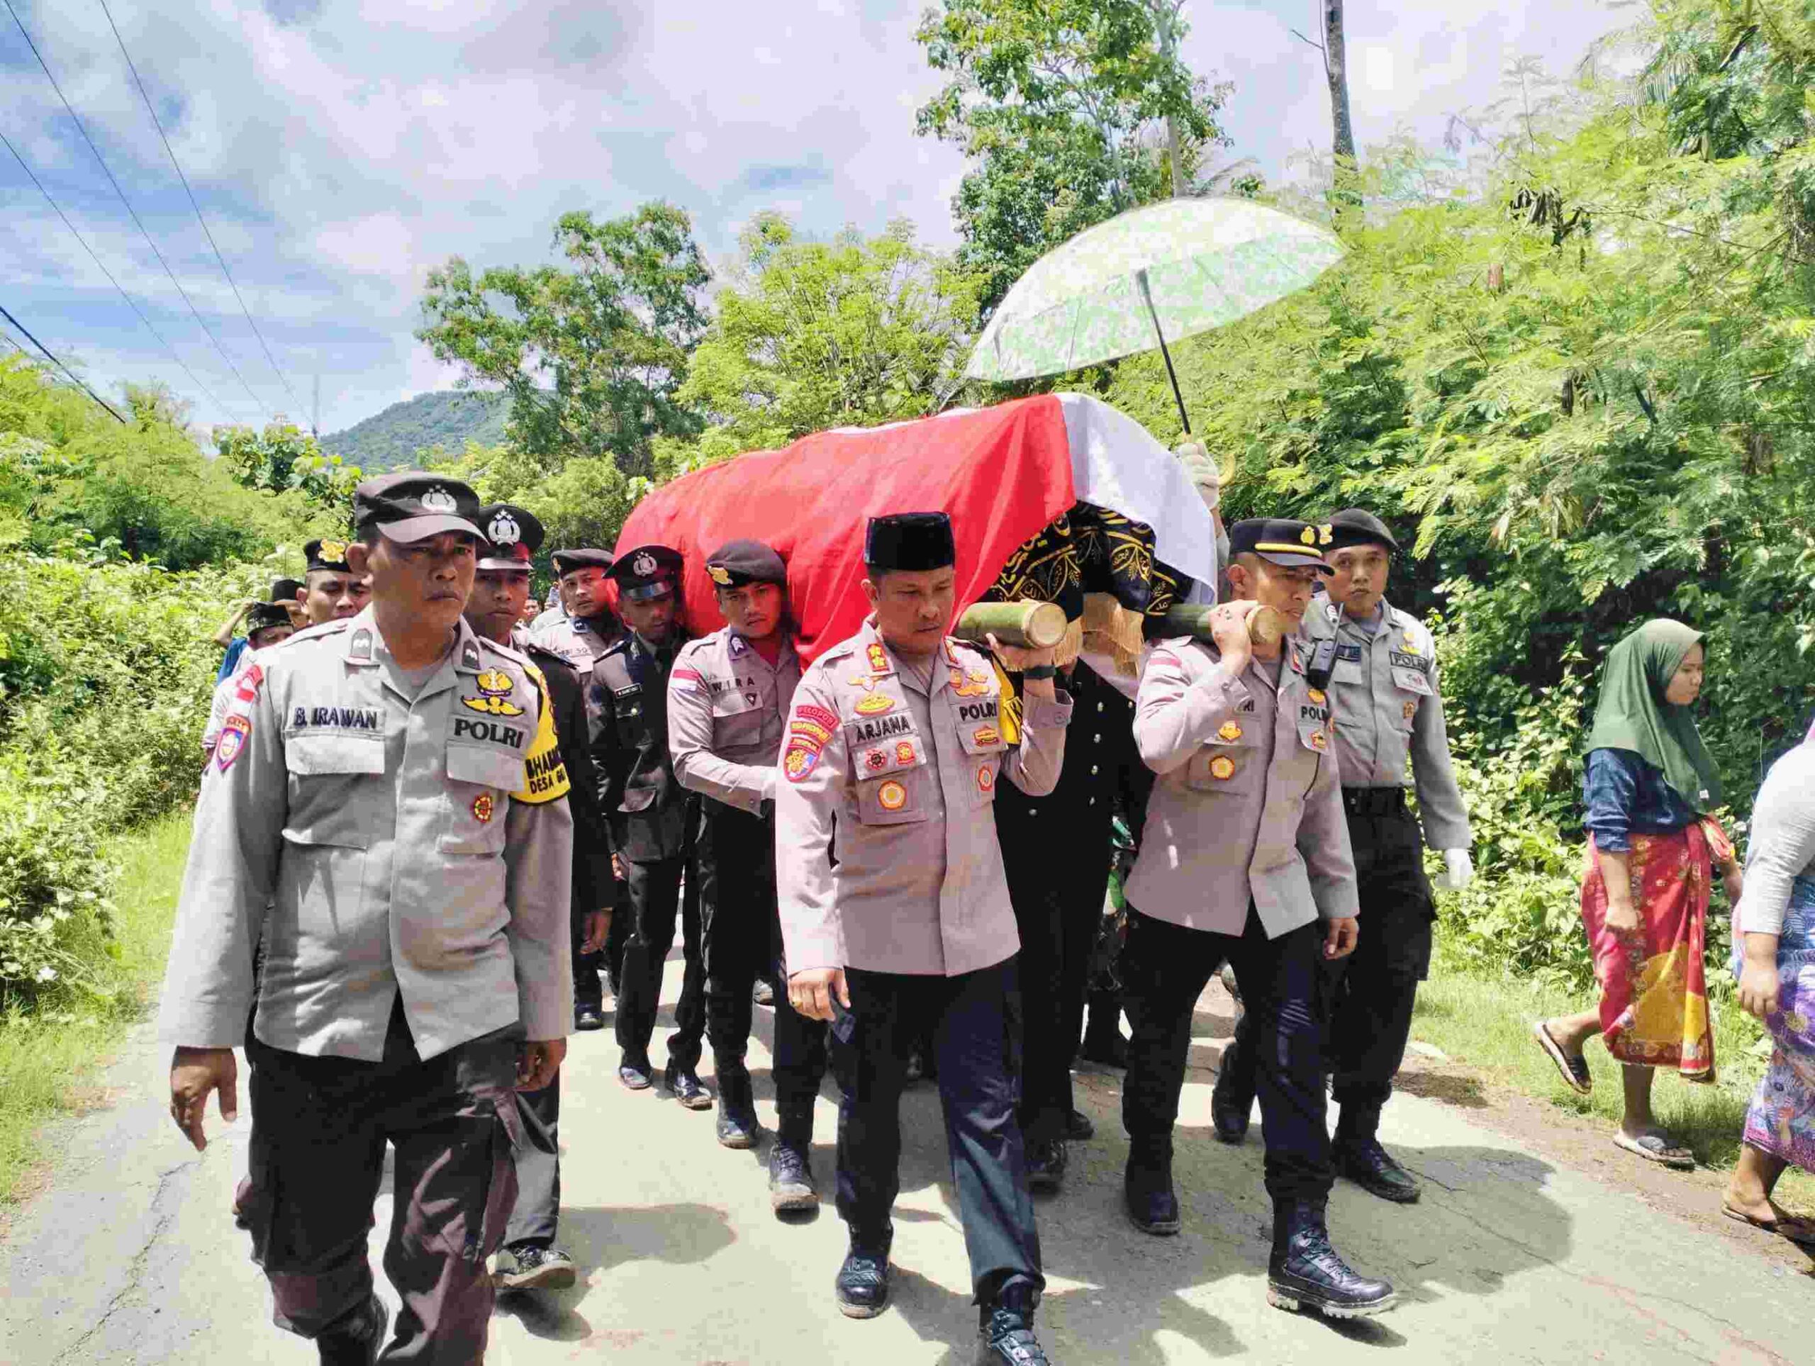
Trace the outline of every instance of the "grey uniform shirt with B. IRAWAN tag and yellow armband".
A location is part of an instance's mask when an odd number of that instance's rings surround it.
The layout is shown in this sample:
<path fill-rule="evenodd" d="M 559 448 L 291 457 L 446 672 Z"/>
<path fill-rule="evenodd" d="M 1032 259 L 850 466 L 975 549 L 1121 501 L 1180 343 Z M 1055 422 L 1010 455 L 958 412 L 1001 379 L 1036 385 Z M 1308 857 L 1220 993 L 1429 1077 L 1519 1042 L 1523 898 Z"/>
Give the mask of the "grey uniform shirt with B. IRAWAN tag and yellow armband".
<path fill-rule="evenodd" d="M 535 666 L 465 622 L 412 695 L 372 610 L 260 651 L 196 802 L 158 1034 L 379 1061 L 574 1023 L 574 820 Z"/>

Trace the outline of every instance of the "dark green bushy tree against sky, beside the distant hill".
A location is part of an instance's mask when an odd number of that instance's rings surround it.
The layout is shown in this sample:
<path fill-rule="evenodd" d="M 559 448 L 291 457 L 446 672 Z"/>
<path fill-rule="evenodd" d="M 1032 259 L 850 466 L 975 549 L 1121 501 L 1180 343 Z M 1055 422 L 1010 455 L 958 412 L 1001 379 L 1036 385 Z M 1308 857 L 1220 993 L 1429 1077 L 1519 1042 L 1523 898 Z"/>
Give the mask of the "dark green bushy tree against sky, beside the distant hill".
<path fill-rule="evenodd" d="M 706 328 L 710 279 L 686 212 L 646 203 L 595 223 L 563 214 L 566 268 L 492 267 L 461 258 L 428 274 L 416 334 L 463 385 L 510 394 L 512 443 L 544 468 L 608 455 L 650 473 L 655 437 L 686 437 L 699 419 L 675 399 Z"/>

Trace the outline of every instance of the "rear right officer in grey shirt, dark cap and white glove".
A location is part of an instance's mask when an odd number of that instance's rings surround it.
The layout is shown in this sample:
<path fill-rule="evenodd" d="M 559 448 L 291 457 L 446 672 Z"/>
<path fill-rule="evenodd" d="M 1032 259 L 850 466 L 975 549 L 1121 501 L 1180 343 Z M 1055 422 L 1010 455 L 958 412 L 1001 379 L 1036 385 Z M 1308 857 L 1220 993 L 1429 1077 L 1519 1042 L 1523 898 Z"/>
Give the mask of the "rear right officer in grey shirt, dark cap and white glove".
<path fill-rule="evenodd" d="M 1334 577 L 1303 633 L 1312 649 L 1336 642 L 1336 760 L 1367 925 L 1354 958 L 1330 965 L 1325 1067 L 1341 1107 L 1332 1156 L 1338 1174 L 1403 1205 L 1418 1199 L 1418 1181 L 1379 1145 L 1378 1127 L 1412 1036 L 1418 983 L 1430 971 L 1436 903 L 1425 844 L 1443 851 L 1445 885 L 1459 891 L 1474 876 L 1472 834 L 1450 767 L 1430 631 L 1385 599 L 1399 542 L 1361 508 L 1345 508 L 1323 530 L 1320 548 Z M 1407 760 L 1423 840 L 1405 804 Z M 1212 1103 L 1218 1134 L 1236 1139 L 1252 1094 L 1245 1032 L 1236 1030 L 1236 1056 L 1225 1054 Z"/>

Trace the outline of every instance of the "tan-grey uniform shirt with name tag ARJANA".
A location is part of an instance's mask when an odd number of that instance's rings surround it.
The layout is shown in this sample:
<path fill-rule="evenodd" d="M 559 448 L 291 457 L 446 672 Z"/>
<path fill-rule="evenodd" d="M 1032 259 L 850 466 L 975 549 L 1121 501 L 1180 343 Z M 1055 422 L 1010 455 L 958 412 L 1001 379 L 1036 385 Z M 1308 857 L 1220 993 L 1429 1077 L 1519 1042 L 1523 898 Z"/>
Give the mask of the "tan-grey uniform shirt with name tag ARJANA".
<path fill-rule="evenodd" d="M 1029 796 L 1053 791 L 1071 702 L 1027 698 L 1020 744 L 1009 746 L 989 659 L 947 639 L 926 662 L 931 684 L 871 617 L 795 689 L 775 785 L 775 882 L 793 972 L 958 976 L 1020 949 L 995 785 L 1007 773 Z"/>

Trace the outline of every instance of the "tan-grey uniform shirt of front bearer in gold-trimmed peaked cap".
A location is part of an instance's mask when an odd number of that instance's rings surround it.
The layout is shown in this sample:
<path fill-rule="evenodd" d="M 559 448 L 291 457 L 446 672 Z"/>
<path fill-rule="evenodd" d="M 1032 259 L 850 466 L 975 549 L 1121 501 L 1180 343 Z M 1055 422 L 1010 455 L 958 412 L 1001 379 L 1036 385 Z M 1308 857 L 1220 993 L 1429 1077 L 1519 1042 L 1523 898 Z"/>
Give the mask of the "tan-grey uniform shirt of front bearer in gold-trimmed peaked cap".
<path fill-rule="evenodd" d="M 1167 640 L 1142 673 L 1134 744 L 1160 778 L 1129 905 L 1241 934 L 1252 902 L 1269 940 L 1358 914 L 1329 698 L 1305 682 L 1301 644 L 1274 680 L 1258 660 L 1232 675 L 1207 640 Z"/>

